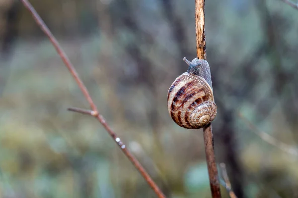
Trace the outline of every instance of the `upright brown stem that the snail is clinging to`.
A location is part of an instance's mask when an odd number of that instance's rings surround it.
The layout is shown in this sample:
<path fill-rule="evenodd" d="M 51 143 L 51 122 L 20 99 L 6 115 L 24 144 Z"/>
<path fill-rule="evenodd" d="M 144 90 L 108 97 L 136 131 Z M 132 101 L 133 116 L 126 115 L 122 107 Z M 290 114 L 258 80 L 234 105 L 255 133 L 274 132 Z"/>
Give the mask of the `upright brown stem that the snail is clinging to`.
<path fill-rule="evenodd" d="M 196 43 L 197 58 L 206 59 L 206 39 L 205 39 L 205 0 L 195 0 L 196 19 Z M 209 173 L 211 194 L 213 198 L 221 198 L 218 170 L 215 161 L 214 139 L 212 125 L 203 128 L 205 153 Z"/>

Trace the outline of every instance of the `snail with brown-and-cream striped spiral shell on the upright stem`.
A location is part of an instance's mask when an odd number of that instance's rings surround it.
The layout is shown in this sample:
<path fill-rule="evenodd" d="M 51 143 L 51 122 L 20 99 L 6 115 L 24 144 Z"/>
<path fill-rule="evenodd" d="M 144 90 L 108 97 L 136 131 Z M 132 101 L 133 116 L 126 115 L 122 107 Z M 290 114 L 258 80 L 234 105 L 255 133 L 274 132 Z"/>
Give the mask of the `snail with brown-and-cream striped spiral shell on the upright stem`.
<path fill-rule="evenodd" d="M 179 126 L 200 129 L 214 120 L 217 105 L 214 102 L 210 67 L 207 60 L 194 58 L 187 72 L 176 78 L 167 95 L 170 116 Z"/>

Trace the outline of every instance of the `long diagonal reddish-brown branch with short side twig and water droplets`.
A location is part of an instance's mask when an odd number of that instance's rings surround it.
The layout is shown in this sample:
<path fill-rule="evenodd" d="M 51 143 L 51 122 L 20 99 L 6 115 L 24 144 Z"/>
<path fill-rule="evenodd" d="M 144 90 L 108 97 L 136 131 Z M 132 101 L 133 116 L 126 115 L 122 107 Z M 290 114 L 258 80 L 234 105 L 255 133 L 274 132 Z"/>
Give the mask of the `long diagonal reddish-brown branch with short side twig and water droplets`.
<path fill-rule="evenodd" d="M 41 30 L 47 35 L 47 37 L 49 38 L 49 40 L 51 41 L 51 43 L 53 44 L 53 46 L 57 50 L 58 54 L 60 55 L 61 59 L 65 63 L 66 67 L 69 69 L 70 73 L 73 75 L 74 80 L 76 81 L 77 85 L 79 86 L 81 92 L 83 93 L 84 97 L 87 99 L 87 101 L 88 101 L 88 103 L 89 103 L 89 105 L 90 105 L 90 107 L 92 109 L 91 111 L 89 111 L 89 110 L 82 110 L 82 109 L 78 109 L 78 108 L 71 108 L 70 110 L 73 110 L 73 111 L 76 111 L 76 112 L 81 112 L 81 113 L 87 113 L 87 114 L 90 114 L 90 115 L 96 117 L 96 119 L 103 125 L 103 127 L 105 128 L 105 130 L 109 133 L 109 135 L 117 143 L 117 145 L 119 146 L 119 148 L 121 148 L 121 150 L 124 152 L 124 154 L 126 155 L 126 157 L 132 162 L 132 164 L 135 166 L 135 168 L 141 173 L 141 175 L 147 181 L 148 185 L 153 189 L 153 191 L 155 192 L 155 194 L 157 195 L 157 197 L 158 198 L 165 198 L 165 196 L 163 195 L 163 193 L 160 191 L 160 189 L 158 188 L 158 186 L 151 179 L 151 177 L 149 176 L 149 174 L 147 173 L 147 171 L 144 169 L 144 167 L 132 155 L 132 153 L 126 148 L 125 144 L 120 140 L 120 138 L 116 135 L 116 133 L 114 131 L 112 131 L 112 129 L 110 128 L 110 126 L 105 121 L 104 117 L 98 113 L 98 110 L 97 110 L 97 107 L 96 107 L 95 103 L 91 99 L 91 97 L 90 97 L 90 95 L 88 93 L 87 88 L 85 87 L 85 85 L 83 84 L 83 82 L 81 81 L 81 79 L 79 78 L 76 70 L 74 69 L 73 64 L 69 60 L 69 58 L 66 55 L 66 53 L 64 52 L 64 50 L 60 47 L 58 41 L 53 36 L 53 34 L 49 30 L 49 28 L 46 26 L 46 24 L 43 22 L 43 20 L 41 19 L 41 17 L 38 15 L 38 13 L 36 12 L 36 10 L 28 2 L 28 0 L 21 0 L 21 1 L 24 4 L 24 6 L 30 11 L 30 13 L 32 14 L 32 17 L 34 18 L 34 20 L 36 21 L 36 23 L 39 25 L 39 27 L 41 28 Z M 88 113 L 88 112 L 90 112 L 90 113 Z M 91 113 L 91 112 L 93 112 L 93 113 Z"/>

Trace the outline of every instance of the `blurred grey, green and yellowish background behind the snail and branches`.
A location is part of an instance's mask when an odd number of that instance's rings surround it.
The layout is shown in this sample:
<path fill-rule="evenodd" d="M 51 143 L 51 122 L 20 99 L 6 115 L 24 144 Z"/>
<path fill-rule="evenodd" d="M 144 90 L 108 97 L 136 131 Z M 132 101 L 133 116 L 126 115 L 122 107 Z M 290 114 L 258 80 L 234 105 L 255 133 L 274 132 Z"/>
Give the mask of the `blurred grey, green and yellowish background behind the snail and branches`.
<path fill-rule="evenodd" d="M 30 2 L 165 195 L 211 197 L 202 130 L 166 107 L 182 58 L 196 56 L 194 0 Z M 298 197 L 297 19 L 282 0 L 206 0 L 216 157 L 239 198 Z M 0 197 L 155 197 L 95 119 L 67 111 L 89 107 L 18 0 L 0 0 L 0 39 Z"/>

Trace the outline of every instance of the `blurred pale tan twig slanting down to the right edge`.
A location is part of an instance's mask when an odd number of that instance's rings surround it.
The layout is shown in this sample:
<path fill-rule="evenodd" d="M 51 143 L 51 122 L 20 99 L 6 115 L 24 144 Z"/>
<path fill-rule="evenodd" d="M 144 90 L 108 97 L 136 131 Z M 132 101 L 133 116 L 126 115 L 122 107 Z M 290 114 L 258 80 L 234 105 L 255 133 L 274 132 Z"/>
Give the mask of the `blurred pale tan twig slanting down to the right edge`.
<path fill-rule="evenodd" d="M 287 145 L 276 138 L 270 136 L 269 134 L 260 131 L 253 123 L 251 123 L 246 117 L 244 117 L 241 113 L 238 113 L 239 117 L 249 126 L 249 128 L 256 134 L 258 135 L 263 141 L 267 142 L 268 144 L 280 148 L 281 150 L 298 156 L 298 148 L 292 147 L 290 145 Z"/>

